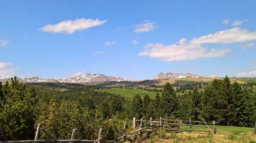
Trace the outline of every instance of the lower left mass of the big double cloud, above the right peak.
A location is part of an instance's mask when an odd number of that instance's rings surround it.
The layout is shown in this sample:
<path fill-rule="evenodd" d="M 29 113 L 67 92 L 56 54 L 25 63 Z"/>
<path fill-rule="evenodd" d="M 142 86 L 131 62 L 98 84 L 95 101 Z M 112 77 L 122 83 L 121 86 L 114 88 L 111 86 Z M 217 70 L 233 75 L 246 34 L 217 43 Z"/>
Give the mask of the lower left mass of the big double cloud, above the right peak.
<path fill-rule="evenodd" d="M 178 43 L 172 45 L 150 43 L 144 47 L 144 51 L 140 52 L 139 55 L 147 55 L 168 62 L 224 56 L 230 51 L 229 49 L 214 48 L 207 50 L 206 47 L 200 44 L 187 43 L 186 41 L 187 39 L 181 39 Z"/>

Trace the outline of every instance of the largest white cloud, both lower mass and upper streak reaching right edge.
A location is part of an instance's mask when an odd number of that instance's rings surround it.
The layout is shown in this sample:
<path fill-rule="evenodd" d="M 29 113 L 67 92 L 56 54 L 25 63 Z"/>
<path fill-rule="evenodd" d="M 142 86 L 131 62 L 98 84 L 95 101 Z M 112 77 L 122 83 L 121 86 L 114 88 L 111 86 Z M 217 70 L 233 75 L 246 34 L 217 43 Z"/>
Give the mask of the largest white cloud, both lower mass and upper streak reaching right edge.
<path fill-rule="evenodd" d="M 234 27 L 228 30 L 208 34 L 199 38 L 193 38 L 187 42 L 183 38 L 172 45 L 162 43 L 149 43 L 139 55 L 147 55 L 152 58 L 159 58 L 162 61 L 194 60 L 197 58 L 212 58 L 224 56 L 230 49 L 209 49 L 202 46 L 205 43 L 235 43 L 256 40 L 256 32 L 249 32 L 247 29 Z M 251 46 L 251 44 L 247 45 Z"/>

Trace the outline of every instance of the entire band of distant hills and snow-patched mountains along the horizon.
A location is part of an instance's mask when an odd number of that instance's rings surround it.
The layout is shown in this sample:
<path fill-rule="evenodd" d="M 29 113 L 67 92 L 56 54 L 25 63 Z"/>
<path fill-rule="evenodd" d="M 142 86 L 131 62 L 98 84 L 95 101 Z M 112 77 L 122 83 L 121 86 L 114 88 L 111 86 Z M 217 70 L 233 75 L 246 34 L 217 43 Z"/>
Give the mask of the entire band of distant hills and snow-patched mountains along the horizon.
<path fill-rule="evenodd" d="M 30 83 L 28 85 L 43 86 L 49 88 L 118 88 L 118 87 L 151 87 L 162 88 L 166 82 L 173 87 L 182 87 L 186 85 L 195 85 L 198 82 L 212 82 L 214 79 L 223 79 L 223 77 L 204 77 L 191 73 L 159 73 L 152 79 L 133 81 L 118 76 L 106 76 L 103 74 L 84 74 L 76 77 L 60 79 L 44 79 L 35 77 L 17 78 L 20 82 Z M 10 81 L 10 78 L 0 79 L 1 82 Z M 255 82 L 256 77 L 230 77 L 230 81 L 239 83 Z"/>

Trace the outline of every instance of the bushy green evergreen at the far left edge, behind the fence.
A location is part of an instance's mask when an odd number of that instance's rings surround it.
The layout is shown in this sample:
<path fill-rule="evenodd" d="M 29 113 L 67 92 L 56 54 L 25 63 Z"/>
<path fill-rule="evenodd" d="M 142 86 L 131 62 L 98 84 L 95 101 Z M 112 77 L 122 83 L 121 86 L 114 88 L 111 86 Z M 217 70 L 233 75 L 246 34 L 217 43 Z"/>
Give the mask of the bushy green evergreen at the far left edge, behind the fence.
<path fill-rule="evenodd" d="M 3 92 L 2 92 L 3 91 Z M 37 103 L 35 89 L 26 88 L 17 78 L 11 78 L 1 90 L 0 139 L 20 140 L 34 137 Z"/>

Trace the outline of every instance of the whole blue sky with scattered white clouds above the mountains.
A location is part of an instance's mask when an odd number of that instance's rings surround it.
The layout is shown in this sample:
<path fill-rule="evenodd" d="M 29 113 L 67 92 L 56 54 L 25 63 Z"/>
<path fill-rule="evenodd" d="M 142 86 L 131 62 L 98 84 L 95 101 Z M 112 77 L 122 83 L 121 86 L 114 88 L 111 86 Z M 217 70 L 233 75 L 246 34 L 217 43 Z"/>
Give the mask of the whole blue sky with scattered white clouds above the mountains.
<path fill-rule="evenodd" d="M 256 76 L 256 1 L 0 1 L 0 75 Z"/>

